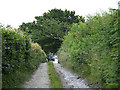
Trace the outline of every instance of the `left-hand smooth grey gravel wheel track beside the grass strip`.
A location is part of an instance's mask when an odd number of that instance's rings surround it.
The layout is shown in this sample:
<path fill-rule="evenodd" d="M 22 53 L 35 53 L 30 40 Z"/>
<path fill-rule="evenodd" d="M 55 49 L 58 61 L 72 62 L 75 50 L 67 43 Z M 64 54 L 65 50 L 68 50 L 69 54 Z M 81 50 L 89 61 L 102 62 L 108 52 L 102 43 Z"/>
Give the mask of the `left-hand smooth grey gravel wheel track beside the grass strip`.
<path fill-rule="evenodd" d="M 49 88 L 49 86 L 47 63 L 41 63 L 31 79 L 25 83 L 24 88 Z"/>

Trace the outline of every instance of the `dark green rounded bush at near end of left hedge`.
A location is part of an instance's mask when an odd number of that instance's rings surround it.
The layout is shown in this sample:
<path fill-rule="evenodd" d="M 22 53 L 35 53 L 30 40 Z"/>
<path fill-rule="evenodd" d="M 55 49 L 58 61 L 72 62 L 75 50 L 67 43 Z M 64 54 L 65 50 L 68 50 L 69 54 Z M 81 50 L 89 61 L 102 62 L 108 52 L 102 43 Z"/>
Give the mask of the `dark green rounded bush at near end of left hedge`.
<path fill-rule="evenodd" d="M 2 28 L 2 73 L 9 74 L 28 61 L 30 41 L 19 30 Z"/>

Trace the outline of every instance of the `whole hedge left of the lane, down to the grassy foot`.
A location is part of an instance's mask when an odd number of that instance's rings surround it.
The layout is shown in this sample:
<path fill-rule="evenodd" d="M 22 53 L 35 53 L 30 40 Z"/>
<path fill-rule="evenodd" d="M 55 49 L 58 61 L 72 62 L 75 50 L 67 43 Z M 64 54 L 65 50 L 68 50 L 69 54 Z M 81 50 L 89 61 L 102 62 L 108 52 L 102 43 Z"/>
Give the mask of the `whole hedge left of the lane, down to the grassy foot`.
<path fill-rule="evenodd" d="M 21 87 L 46 55 L 20 30 L 2 30 L 2 87 Z"/>

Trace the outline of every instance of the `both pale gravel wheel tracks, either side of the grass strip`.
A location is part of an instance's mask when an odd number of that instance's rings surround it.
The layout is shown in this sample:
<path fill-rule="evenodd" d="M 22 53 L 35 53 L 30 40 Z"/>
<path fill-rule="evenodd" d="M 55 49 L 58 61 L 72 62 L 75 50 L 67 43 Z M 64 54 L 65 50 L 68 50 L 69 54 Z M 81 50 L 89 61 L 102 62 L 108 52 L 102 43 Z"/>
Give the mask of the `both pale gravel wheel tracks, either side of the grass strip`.
<path fill-rule="evenodd" d="M 78 75 L 66 70 L 56 61 L 53 63 L 61 78 L 62 88 L 89 88 L 85 80 L 78 79 Z M 24 88 L 50 88 L 47 63 L 41 63 L 39 65 L 31 79 L 25 82 Z"/>

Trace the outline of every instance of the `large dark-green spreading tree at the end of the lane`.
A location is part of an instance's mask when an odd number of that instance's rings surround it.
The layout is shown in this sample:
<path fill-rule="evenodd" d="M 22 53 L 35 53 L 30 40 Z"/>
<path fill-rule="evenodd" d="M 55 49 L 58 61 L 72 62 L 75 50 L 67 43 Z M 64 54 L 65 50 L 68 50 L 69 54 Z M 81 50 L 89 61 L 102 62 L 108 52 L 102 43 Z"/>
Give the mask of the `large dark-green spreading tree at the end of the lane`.
<path fill-rule="evenodd" d="M 20 29 L 31 34 L 32 40 L 39 43 L 47 54 L 57 52 L 72 23 L 85 21 L 82 16 L 75 15 L 75 11 L 61 9 L 49 10 L 35 19 L 31 23 L 23 23 Z"/>

